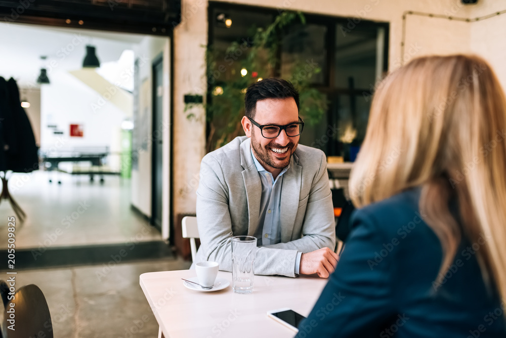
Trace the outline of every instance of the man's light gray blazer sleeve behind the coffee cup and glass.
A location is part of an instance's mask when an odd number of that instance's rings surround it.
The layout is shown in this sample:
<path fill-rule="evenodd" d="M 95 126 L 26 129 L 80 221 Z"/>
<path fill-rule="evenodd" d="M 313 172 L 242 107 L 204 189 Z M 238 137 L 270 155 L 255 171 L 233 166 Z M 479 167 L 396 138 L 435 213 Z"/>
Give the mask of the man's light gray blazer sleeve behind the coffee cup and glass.
<path fill-rule="evenodd" d="M 245 221 L 247 222 L 247 220 Z M 203 257 L 220 264 L 220 270 L 232 271 L 232 221 L 227 183 L 219 162 L 206 155 L 200 164 L 197 189 L 197 227 Z M 199 252 L 197 252 L 197 256 Z M 295 277 L 296 250 L 257 247 L 256 275 Z"/>

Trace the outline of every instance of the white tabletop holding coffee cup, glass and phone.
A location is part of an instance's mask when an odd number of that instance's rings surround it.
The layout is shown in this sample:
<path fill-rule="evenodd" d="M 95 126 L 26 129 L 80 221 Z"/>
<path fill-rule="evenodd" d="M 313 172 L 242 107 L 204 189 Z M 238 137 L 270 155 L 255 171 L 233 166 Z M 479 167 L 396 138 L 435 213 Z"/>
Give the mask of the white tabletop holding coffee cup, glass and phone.
<path fill-rule="evenodd" d="M 181 278 L 195 270 L 148 272 L 141 288 L 165 337 L 292 337 L 295 332 L 267 317 L 268 310 L 290 308 L 308 316 L 327 280 L 255 276 L 251 294 L 236 294 L 229 287 L 215 292 L 187 289 Z M 230 272 L 218 277 L 232 282 Z"/>

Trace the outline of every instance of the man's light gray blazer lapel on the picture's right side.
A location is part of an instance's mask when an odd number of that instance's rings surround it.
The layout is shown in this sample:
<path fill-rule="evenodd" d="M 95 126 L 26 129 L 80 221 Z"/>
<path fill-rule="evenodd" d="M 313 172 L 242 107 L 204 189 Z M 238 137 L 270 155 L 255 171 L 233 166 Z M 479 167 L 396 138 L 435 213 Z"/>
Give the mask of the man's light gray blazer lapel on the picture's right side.
<path fill-rule="evenodd" d="M 291 234 L 297 211 L 302 186 L 302 166 L 296 164 L 296 155 L 292 155 L 290 167 L 283 174 L 283 185 L 281 187 L 281 243 L 291 241 Z"/>

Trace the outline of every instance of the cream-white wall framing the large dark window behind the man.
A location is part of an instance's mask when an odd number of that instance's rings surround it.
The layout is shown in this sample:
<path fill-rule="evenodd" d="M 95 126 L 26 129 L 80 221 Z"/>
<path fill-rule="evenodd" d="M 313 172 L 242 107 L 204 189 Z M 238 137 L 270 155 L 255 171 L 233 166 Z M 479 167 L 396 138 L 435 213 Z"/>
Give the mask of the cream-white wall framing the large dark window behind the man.
<path fill-rule="evenodd" d="M 506 81 L 505 48 L 501 34 L 506 15 L 488 21 L 467 23 L 455 20 L 406 18 L 406 46 L 401 54 L 402 17 L 407 11 L 472 18 L 503 10 L 504 2 L 480 0 L 478 5 L 462 5 L 460 0 L 235 0 L 224 3 L 264 6 L 360 20 L 390 23 L 389 70 L 409 59 L 427 54 L 475 52 L 486 57 Z M 204 49 L 207 44 L 207 1 L 183 0 L 183 22 L 174 31 L 174 217 L 194 213 L 200 160 L 205 153 L 205 116 L 194 108 L 196 119 L 188 120 L 183 96 L 202 94 L 205 88 Z M 353 26 L 353 21 L 350 20 Z M 495 42 L 494 42 L 495 41 Z"/>

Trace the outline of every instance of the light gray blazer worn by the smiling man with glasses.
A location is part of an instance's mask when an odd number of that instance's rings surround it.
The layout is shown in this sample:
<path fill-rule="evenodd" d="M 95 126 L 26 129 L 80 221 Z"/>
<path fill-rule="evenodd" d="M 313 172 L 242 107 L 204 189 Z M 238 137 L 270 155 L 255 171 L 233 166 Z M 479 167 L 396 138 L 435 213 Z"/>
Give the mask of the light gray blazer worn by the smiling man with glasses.
<path fill-rule="evenodd" d="M 215 261 L 220 270 L 232 271 L 230 238 L 254 236 L 259 226 L 262 183 L 250 147 L 250 139 L 241 136 L 202 159 L 197 189 L 201 245 L 195 262 Z M 281 243 L 257 248 L 257 275 L 294 277 L 298 251 L 334 249 L 334 213 L 323 151 L 297 147 L 283 174 L 280 212 Z"/>

